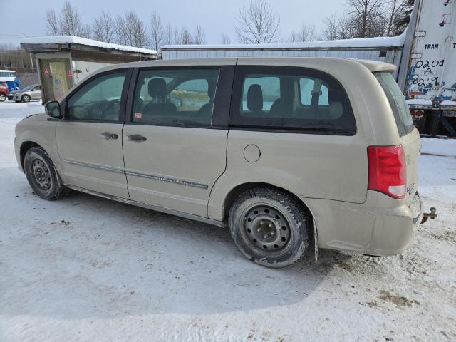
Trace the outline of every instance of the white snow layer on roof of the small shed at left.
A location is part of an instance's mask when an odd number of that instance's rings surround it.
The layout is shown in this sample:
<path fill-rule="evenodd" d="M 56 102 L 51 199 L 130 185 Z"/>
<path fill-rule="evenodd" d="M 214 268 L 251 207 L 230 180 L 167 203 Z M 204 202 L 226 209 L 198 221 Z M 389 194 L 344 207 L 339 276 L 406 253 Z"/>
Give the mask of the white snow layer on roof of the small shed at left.
<path fill-rule="evenodd" d="M 86 46 L 96 46 L 98 48 L 107 48 L 108 50 L 145 53 L 148 55 L 157 54 L 157 51 L 149 50 L 147 48 L 135 48 L 134 46 L 105 43 L 103 41 L 94 41 L 93 39 L 75 36 L 44 36 L 35 38 L 25 38 L 21 41 L 21 44 L 79 44 Z"/>

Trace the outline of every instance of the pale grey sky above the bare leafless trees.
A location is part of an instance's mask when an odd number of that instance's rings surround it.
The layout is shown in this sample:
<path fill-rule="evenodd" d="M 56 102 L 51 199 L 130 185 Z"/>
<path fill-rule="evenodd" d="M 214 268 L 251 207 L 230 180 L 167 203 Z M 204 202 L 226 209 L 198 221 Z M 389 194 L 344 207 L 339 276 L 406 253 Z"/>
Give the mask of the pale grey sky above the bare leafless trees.
<path fill-rule="evenodd" d="M 0 43 L 19 43 L 20 37 L 13 35 L 44 36 L 45 11 L 61 9 L 62 0 L 0 0 Z M 160 14 L 162 21 L 178 27 L 187 25 L 192 30 L 200 24 L 206 33 L 207 43 L 219 43 L 222 33 L 234 37 L 239 6 L 249 0 L 73 0 L 84 23 L 92 23 L 94 16 L 101 11 L 109 11 L 113 16 L 135 10 L 147 24 L 152 11 Z M 331 13 L 341 14 L 343 0 L 269 0 L 281 19 L 281 37 L 289 38 L 291 31 L 298 30 L 301 24 L 313 23 L 318 31 L 323 27 L 321 21 Z M 19 9 L 19 7 L 22 7 Z M 6 36 L 11 35 L 11 36 Z"/>

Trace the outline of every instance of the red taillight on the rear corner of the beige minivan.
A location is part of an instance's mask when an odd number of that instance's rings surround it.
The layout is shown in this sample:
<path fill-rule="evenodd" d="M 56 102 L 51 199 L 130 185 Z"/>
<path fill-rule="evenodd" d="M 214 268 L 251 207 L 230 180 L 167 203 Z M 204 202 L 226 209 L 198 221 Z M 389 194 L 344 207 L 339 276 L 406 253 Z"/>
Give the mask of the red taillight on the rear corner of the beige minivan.
<path fill-rule="evenodd" d="M 407 172 L 402 145 L 368 147 L 368 189 L 401 199 L 405 197 Z"/>

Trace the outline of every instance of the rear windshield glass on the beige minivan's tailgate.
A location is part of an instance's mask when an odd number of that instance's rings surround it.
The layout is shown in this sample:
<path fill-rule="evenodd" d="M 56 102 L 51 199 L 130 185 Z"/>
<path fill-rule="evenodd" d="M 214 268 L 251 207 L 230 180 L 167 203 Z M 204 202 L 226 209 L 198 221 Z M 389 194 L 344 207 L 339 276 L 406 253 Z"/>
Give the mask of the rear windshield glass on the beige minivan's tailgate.
<path fill-rule="evenodd" d="M 375 77 L 378 79 L 380 86 L 382 86 L 386 97 L 390 102 L 396 125 L 398 126 L 399 135 L 402 137 L 403 135 L 410 133 L 413 130 L 413 120 L 398 83 L 394 81 L 391 73 L 375 73 Z"/>

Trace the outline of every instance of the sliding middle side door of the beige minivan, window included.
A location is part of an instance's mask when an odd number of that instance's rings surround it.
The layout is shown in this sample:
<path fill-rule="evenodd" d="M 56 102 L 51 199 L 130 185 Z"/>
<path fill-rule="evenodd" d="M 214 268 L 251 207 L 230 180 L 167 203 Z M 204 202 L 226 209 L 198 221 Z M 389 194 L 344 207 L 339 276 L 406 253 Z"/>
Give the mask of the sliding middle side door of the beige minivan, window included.
<path fill-rule="evenodd" d="M 123 130 L 130 199 L 207 217 L 226 165 L 227 128 L 215 128 L 219 68 L 140 71 Z"/>

